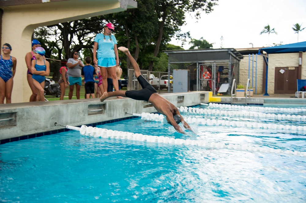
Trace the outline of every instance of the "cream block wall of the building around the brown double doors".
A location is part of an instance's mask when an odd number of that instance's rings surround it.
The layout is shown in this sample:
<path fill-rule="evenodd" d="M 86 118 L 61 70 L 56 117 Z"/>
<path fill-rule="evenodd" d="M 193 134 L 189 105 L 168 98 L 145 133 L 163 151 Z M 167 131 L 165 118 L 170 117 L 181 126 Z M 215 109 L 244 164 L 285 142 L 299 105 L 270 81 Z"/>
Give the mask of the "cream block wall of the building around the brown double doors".
<path fill-rule="evenodd" d="M 301 79 L 306 79 L 306 53 L 302 53 L 302 73 Z M 254 59 L 256 57 L 254 56 Z M 248 55 L 244 55 L 244 58 L 240 61 L 240 73 L 239 81 L 244 86 L 248 79 Z M 252 55 L 251 55 L 252 60 Z M 299 66 L 299 53 L 279 53 L 269 54 L 269 66 L 268 66 L 268 94 L 274 94 L 275 83 L 275 67 L 298 67 Z M 263 56 L 257 56 L 257 94 L 264 93 L 263 89 Z M 252 72 L 252 61 L 250 63 L 250 71 Z M 254 63 L 254 76 L 255 76 L 255 63 Z M 252 77 L 252 74 L 250 74 Z M 252 84 L 252 80 L 250 80 Z M 255 78 L 254 78 L 254 93 L 255 93 Z"/>

